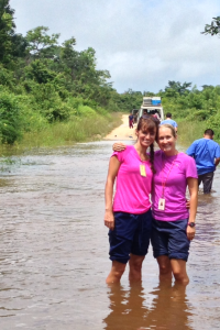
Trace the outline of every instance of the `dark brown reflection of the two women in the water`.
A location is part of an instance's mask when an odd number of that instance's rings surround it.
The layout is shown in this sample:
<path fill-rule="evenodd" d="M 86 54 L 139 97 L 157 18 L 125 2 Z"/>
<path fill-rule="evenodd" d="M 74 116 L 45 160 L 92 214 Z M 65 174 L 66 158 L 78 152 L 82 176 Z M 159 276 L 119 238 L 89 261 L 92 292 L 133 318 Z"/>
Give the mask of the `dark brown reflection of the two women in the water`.
<path fill-rule="evenodd" d="M 147 306 L 146 295 L 152 295 Z M 109 290 L 110 314 L 103 319 L 106 330 L 193 330 L 189 317 L 193 316 L 183 286 L 158 286 L 145 294 L 142 285 L 125 289 L 114 285 Z"/>

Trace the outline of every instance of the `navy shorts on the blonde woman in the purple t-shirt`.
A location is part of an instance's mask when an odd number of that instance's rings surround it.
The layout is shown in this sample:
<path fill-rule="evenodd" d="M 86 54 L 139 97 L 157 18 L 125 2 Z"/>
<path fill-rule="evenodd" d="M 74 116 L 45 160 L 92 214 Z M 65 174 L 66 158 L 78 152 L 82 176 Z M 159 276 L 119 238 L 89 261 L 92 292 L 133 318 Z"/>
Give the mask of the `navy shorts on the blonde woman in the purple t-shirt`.
<path fill-rule="evenodd" d="M 169 258 L 188 260 L 190 242 L 186 228 L 188 219 L 161 221 L 153 219 L 151 242 L 154 257 L 167 255 Z"/>

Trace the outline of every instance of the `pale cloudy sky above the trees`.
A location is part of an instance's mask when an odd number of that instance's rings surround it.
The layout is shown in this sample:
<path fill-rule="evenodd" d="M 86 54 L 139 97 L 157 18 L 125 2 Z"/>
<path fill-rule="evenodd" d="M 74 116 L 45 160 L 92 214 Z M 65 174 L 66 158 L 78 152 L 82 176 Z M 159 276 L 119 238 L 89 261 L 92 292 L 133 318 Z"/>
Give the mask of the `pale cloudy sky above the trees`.
<path fill-rule="evenodd" d="M 219 0 L 11 0 L 16 32 L 43 25 L 92 47 L 113 88 L 157 92 L 168 80 L 220 85 L 220 38 L 204 35 Z"/>

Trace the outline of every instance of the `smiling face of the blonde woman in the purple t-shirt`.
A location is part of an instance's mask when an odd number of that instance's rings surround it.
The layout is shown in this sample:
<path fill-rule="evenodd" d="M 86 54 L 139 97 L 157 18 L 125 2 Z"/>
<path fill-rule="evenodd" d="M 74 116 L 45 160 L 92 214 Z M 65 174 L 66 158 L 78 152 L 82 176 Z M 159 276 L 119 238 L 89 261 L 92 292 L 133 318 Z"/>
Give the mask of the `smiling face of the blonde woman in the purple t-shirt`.
<path fill-rule="evenodd" d="M 166 155 L 175 155 L 176 133 L 170 125 L 161 125 L 158 129 L 158 146 Z"/>

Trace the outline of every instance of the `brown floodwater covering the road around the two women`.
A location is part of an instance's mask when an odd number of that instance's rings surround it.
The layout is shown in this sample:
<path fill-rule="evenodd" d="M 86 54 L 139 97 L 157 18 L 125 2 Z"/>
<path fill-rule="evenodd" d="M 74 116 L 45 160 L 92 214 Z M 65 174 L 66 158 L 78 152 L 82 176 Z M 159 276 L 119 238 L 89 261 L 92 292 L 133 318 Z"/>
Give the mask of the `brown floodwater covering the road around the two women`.
<path fill-rule="evenodd" d="M 103 189 L 112 142 L 38 150 L 0 175 L 0 329 L 220 329 L 220 172 L 199 196 L 186 290 L 158 285 L 152 250 L 141 285 L 108 287 Z"/>

